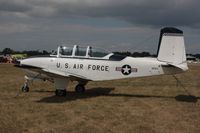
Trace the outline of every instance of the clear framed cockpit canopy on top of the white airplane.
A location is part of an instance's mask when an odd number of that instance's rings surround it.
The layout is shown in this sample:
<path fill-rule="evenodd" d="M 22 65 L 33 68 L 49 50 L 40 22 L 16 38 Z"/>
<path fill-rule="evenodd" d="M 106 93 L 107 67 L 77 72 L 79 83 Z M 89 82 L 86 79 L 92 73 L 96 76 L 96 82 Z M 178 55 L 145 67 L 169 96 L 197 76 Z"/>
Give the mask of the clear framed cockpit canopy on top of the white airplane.
<path fill-rule="evenodd" d="M 73 47 L 59 46 L 50 56 L 109 59 L 112 55 L 113 53 L 100 48 L 92 48 L 91 46 L 80 47 L 74 45 Z"/>

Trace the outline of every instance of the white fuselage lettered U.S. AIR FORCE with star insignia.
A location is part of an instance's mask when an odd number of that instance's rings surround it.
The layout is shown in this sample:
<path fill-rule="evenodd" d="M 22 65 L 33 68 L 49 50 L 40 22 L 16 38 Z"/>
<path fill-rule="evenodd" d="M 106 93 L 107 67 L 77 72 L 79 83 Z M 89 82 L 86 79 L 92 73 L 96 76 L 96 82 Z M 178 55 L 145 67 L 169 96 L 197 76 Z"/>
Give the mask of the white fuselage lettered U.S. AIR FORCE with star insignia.
<path fill-rule="evenodd" d="M 36 57 L 24 59 L 20 63 L 21 66 L 30 66 L 25 68 L 31 71 L 34 71 L 31 67 L 54 70 L 66 77 L 72 74 L 91 81 L 144 77 L 173 72 L 171 67 L 166 67 L 166 63 L 160 62 L 156 58 L 126 57 L 120 61 L 113 61 L 107 59 Z"/>

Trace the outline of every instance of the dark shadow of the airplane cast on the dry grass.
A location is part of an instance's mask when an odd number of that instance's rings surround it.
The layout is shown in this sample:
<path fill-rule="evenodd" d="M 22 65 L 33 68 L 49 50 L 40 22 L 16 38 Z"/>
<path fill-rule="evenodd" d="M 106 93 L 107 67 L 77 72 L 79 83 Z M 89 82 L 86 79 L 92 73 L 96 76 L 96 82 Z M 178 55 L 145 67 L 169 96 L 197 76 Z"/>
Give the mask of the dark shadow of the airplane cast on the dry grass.
<path fill-rule="evenodd" d="M 110 93 L 114 88 L 92 88 L 86 90 L 85 93 L 68 92 L 66 97 L 59 97 L 56 95 L 42 98 L 37 102 L 42 103 L 63 103 L 67 101 L 73 101 L 77 99 L 86 99 L 98 96 L 108 96 L 108 97 L 130 97 L 130 98 L 166 98 L 175 99 L 179 102 L 189 102 L 196 103 L 200 97 L 193 95 L 177 95 L 177 96 L 156 96 L 156 95 L 144 95 L 144 94 L 120 94 L 120 93 Z M 53 92 L 53 91 L 35 91 L 35 92 Z"/>

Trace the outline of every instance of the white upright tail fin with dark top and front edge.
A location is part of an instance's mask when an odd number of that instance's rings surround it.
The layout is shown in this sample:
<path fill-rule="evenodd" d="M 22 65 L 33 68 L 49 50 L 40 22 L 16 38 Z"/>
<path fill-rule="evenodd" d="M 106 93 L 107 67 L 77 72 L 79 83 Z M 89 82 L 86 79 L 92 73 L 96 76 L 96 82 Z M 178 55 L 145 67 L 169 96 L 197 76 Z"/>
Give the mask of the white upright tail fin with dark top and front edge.
<path fill-rule="evenodd" d="M 161 29 L 157 59 L 182 70 L 188 69 L 183 31 L 173 27 Z"/>

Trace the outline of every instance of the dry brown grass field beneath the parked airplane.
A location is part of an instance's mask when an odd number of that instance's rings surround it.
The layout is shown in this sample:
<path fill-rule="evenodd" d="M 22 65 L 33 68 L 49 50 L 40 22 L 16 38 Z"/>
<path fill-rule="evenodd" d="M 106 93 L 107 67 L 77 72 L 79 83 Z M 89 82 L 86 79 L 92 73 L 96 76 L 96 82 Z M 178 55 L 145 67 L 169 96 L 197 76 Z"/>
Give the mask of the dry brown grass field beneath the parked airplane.
<path fill-rule="evenodd" d="M 49 82 L 21 93 L 22 70 L 0 64 L 0 133 L 200 132 L 200 65 L 177 75 L 90 82 L 83 94 L 69 86 L 56 97 Z"/>

